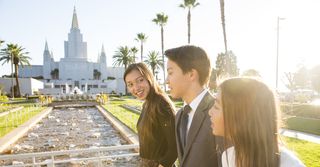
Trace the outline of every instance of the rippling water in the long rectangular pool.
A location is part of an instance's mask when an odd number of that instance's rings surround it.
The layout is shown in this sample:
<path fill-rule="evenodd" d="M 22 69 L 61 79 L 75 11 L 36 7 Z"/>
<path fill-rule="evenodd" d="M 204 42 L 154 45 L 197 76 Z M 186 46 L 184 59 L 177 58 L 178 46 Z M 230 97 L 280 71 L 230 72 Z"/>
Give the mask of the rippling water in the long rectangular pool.
<path fill-rule="evenodd" d="M 96 108 L 54 109 L 11 148 L 12 154 L 75 150 L 129 144 Z M 130 150 L 104 152 L 103 155 L 133 153 Z M 59 158 L 90 157 L 93 153 Z M 49 157 L 47 158 L 49 159 Z M 45 159 L 41 159 L 42 161 Z M 103 166 L 138 166 L 137 157 L 113 158 Z M 15 162 L 19 163 L 19 162 Z M 26 163 L 26 161 L 24 162 Z M 12 164 L 12 162 L 0 162 Z M 56 165 L 58 166 L 58 165 Z M 69 163 L 62 166 L 97 166 L 94 162 Z"/>

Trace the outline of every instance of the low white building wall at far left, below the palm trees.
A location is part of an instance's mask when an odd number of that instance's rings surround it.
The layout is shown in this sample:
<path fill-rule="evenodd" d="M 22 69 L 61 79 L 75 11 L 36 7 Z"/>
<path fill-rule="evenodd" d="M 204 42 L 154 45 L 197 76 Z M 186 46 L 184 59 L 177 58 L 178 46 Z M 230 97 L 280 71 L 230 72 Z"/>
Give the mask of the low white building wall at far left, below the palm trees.
<path fill-rule="evenodd" d="M 16 85 L 16 79 L 13 78 L 0 78 L 0 85 L 4 86 L 4 92 L 7 94 L 11 94 L 12 92 L 12 81 L 13 84 Z M 33 79 L 33 78 L 19 78 L 19 86 L 20 86 L 20 93 L 21 95 L 25 96 L 34 95 L 35 92 L 40 91 L 43 89 L 43 82 Z"/>

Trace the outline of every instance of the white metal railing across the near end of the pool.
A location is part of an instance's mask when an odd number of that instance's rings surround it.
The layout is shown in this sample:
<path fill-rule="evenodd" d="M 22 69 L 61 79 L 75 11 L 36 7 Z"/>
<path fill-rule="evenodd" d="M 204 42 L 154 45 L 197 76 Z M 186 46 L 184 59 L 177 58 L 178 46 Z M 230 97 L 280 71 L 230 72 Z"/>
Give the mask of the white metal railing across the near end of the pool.
<path fill-rule="evenodd" d="M 0 163 L 4 160 L 32 160 L 32 163 L 26 164 L 12 164 L 3 167 L 26 167 L 26 166 L 39 166 L 39 165 L 47 165 L 54 167 L 55 164 L 63 164 L 68 162 L 79 162 L 79 161 L 95 161 L 98 162 L 97 166 L 103 166 L 102 161 L 109 158 L 121 158 L 121 157 L 133 157 L 138 156 L 139 153 L 125 153 L 118 155 L 103 155 L 102 152 L 106 151 L 115 151 L 115 150 L 130 150 L 130 149 L 138 149 L 138 144 L 130 144 L 130 145 L 121 145 L 121 146 L 109 146 L 109 147 L 99 147 L 99 148 L 87 148 L 87 149 L 78 149 L 78 150 L 63 150 L 63 151 L 51 151 L 51 152 L 37 152 L 37 153 L 25 153 L 25 154 L 13 154 L 13 155 L 0 155 Z M 69 158 L 69 159 L 55 159 L 57 156 L 63 155 L 72 155 L 72 154 L 85 154 L 85 153 L 96 153 L 93 157 L 84 157 L 84 158 Z M 45 161 L 37 162 L 37 158 L 50 157 L 50 160 L 46 159 Z M 1 164 L 0 164 L 1 165 Z"/>

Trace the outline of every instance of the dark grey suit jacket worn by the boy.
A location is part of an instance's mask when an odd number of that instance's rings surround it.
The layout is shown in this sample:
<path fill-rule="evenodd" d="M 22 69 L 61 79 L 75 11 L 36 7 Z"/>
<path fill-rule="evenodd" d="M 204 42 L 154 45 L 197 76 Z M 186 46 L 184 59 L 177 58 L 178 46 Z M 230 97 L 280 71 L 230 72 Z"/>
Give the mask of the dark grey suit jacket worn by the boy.
<path fill-rule="evenodd" d="M 218 158 L 220 156 L 217 156 L 215 136 L 212 135 L 210 116 L 208 114 L 213 103 L 213 96 L 209 92 L 206 93 L 193 116 L 183 156 L 179 137 L 182 109 L 178 111 L 175 130 L 181 167 L 218 167 Z"/>

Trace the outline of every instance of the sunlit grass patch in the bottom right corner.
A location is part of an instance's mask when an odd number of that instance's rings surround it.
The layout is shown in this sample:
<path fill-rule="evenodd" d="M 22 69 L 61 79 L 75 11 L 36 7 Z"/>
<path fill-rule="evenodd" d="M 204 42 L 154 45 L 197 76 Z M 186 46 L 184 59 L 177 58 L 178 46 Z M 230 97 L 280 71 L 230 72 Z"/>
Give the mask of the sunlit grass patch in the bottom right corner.
<path fill-rule="evenodd" d="M 308 167 L 320 166 L 320 144 L 298 140 L 290 137 L 282 137 L 287 148 L 297 153 L 297 156 Z"/>

